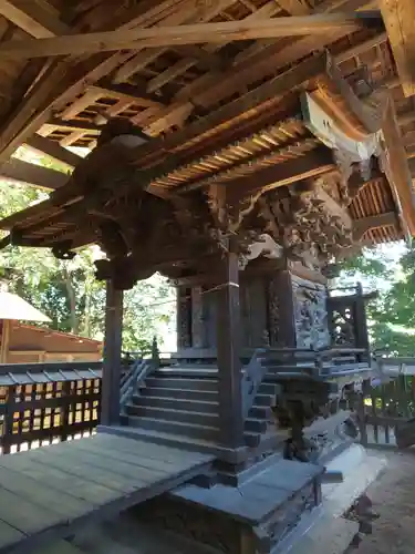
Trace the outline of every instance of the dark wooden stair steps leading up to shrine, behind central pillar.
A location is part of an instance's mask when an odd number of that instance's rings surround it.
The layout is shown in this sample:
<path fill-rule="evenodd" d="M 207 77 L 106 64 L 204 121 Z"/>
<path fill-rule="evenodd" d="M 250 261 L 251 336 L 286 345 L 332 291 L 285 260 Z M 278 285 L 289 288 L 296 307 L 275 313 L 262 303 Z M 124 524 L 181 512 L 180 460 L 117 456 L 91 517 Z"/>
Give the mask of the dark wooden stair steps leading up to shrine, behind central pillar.
<path fill-rule="evenodd" d="M 219 442 L 217 367 L 162 368 L 152 372 L 125 404 L 123 423 L 143 434 Z M 245 443 L 257 448 L 274 425 L 271 407 L 278 387 L 262 383 L 245 420 Z"/>

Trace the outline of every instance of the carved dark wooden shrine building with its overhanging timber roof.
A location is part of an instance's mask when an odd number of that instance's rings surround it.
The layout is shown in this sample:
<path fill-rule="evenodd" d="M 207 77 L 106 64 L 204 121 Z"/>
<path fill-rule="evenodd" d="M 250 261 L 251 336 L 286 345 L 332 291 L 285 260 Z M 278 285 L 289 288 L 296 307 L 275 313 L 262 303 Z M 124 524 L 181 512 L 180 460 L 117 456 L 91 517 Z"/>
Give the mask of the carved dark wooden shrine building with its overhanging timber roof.
<path fill-rule="evenodd" d="M 51 189 L 0 222 L 0 246 L 105 253 L 94 444 L 208 455 L 190 463 L 204 475 L 134 496 L 139 517 L 218 552 L 286 552 L 314 509 L 332 521 L 322 474 L 354 448 L 342 408 L 371 371 L 364 296 L 330 296 L 328 278 L 415 233 L 414 2 L 70 4 L 0 2 L 0 174 Z M 177 287 L 178 349 L 120 389 L 123 291 L 156 271 Z"/>

